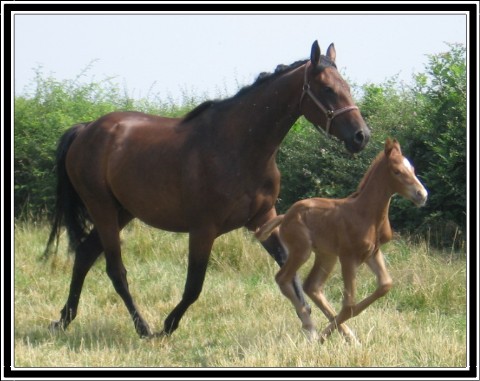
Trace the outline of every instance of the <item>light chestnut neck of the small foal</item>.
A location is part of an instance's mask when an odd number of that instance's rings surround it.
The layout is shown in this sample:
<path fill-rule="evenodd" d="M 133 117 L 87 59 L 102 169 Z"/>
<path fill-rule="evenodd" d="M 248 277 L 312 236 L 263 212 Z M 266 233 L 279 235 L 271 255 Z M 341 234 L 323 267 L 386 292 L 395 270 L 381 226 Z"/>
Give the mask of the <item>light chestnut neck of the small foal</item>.
<path fill-rule="evenodd" d="M 385 181 L 388 174 L 388 166 L 385 155 L 378 158 L 362 179 L 360 189 L 352 196 L 353 203 L 363 216 L 372 223 L 381 223 L 388 219 L 390 199 L 394 192 L 388 182 Z"/>

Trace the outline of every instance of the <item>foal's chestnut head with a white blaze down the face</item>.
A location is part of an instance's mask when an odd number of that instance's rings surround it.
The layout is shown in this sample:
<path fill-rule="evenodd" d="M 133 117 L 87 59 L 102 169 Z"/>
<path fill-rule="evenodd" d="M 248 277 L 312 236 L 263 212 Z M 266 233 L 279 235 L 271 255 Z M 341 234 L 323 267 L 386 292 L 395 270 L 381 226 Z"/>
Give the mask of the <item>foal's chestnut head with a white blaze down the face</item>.
<path fill-rule="evenodd" d="M 396 139 L 387 139 L 385 155 L 388 159 L 389 180 L 393 193 L 398 193 L 416 206 L 424 206 L 428 192 L 415 176 L 415 169 L 402 155 L 400 144 Z"/>

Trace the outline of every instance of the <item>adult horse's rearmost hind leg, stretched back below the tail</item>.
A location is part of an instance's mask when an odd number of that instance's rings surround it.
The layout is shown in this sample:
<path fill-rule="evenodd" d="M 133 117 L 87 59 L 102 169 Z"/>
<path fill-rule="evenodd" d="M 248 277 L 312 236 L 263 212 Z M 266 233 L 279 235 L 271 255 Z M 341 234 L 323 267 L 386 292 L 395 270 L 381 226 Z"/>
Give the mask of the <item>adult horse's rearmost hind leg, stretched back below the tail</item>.
<path fill-rule="evenodd" d="M 121 213 L 118 221 L 119 226 L 123 228 L 131 220 L 130 214 L 126 212 Z M 75 261 L 67 302 L 60 312 L 60 320 L 52 322 L 50 329 L 66 329 L 72 320 L 75 319 L 85 277 L 102 252 L 103 246 L 98 232 L 96 229 L 93 229 L 75 250 Z"/>

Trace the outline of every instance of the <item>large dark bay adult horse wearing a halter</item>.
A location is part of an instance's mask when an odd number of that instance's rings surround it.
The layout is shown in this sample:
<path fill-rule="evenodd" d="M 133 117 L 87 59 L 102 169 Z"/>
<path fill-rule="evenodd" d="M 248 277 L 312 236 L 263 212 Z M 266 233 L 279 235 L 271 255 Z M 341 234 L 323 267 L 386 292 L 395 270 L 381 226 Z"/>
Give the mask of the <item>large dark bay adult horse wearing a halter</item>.
<path fill-rule="evenodd" d="M 351 152 L 370 136 L 331 44 L 310 60 L 280 65 L 235 96 L 208 101 L 184 118 L 114 112 L 73 126 L 57 151 L 57 203 L 47 251 L 62 225 L 75 250 L 72 280 L 60 320 L 75 318 L 87 272 L 103 252 L 106 271 L 142 337 L 151 330 L 129 292 L 119 232 L 133 218 L 159 229 L 189 233 L 185 291 L 160 334 L 170 334 L 198 298 L 214 240 L 242 226 L 255 231 L 276 216 L 280 174 L 275 164 L 283 138 L 304 115 L 329 127 Z M 264 242 L 281 265 L 274 235 Z M 301 287 L 295 289 L 303 300 Z"/>

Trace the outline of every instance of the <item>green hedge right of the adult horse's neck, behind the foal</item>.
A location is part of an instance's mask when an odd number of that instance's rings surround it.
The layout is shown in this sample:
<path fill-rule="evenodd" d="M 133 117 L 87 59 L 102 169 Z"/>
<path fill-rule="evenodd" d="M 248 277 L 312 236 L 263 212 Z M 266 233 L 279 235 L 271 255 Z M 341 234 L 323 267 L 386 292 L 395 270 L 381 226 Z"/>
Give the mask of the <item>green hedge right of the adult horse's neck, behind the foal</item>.
<path fill-rule="evenodd" d="M 417 209 L 396 197 L 390 219 L 396 230 L 423 234 L 433 244 L 460 246 L 466 232 L 465 47 L 449 45 L 447 53 L 429 56 L 426 72 L 413 86 L 392 78 L 365 84 L 357 102 L 372 139 L 353 160 L 333 140 L 318 138 L 300 120 L 279 152 L 282 190 L 279 209 L 301 198 L 345 197 L 353 192 L 387 137 L 397 138 L 405 156 L 429 190 L 426 207 Z M 434 235 L 434 236 L 432 236 Z"/>

